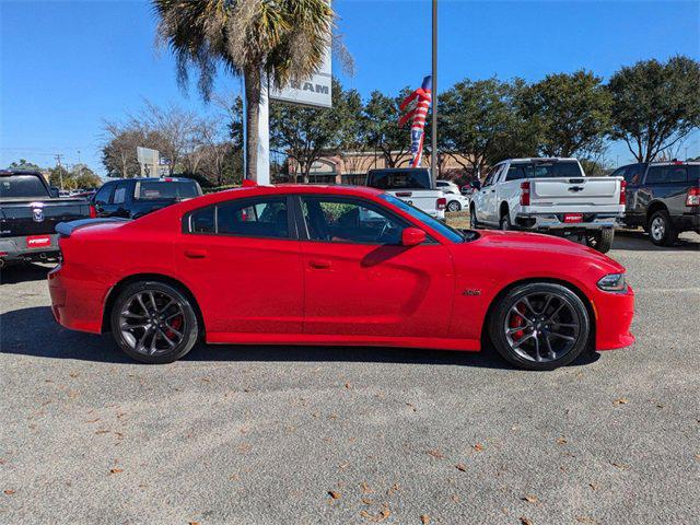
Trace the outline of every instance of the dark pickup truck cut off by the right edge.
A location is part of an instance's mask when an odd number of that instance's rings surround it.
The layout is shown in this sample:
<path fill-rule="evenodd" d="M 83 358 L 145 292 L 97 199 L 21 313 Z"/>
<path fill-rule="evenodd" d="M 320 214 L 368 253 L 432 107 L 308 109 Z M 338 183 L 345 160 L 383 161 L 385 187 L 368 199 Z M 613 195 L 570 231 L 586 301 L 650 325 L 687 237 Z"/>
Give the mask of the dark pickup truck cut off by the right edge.
<path fill-rule="evenodd" d="M 700 162 L 652 162 L 622 166 L 627 182 L 625 219 L 642 226 L 652 243 L 670 246 L 682 232 L 700 233 Z"/>

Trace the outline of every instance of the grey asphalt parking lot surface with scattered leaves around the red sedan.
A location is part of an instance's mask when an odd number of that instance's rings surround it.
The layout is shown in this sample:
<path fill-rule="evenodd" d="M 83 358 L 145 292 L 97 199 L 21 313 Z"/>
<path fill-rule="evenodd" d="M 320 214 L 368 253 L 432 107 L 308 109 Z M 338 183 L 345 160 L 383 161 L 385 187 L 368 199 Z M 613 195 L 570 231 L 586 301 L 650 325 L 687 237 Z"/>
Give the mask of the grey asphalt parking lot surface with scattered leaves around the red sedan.
<path fill-rule="evenodd" d="M 696 523 L 700 235 L 618 235 L 626 350 L 548 373 L 486 354 L 205 347 L 129 361 L 0 287 L 0 523 Z"/>

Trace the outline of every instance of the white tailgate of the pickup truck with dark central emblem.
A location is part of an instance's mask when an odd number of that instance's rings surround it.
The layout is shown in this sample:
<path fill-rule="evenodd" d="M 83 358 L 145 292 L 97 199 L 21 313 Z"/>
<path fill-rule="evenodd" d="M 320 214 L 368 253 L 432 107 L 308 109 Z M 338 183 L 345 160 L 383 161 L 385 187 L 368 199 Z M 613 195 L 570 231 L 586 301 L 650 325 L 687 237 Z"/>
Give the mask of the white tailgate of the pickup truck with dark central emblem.
<path fill-rule="evenodd" d="M 619 206 L 622 177 L 533 178 L 530 206 Z"/>

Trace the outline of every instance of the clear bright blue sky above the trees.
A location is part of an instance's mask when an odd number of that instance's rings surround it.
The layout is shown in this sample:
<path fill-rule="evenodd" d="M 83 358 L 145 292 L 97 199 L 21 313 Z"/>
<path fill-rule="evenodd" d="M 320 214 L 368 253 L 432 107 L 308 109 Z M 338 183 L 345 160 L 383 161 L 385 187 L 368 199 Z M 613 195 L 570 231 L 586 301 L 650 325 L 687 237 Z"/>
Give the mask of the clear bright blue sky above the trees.
<path fill-rule="evenodd" d="M 334 8 L 355 62 L 352 75 L 334 65 L 346 88 L 393 95 L 430 73 L 430 1 Z M 154 46 L 155 24 L 147 1 L 0 0 L 0 167 L 19 159 L 51 166 L 61 154 L 104 173 L 105 120 L 138 113 L 145 100 L 215 112 L 195 85 L 177 85 L 171 54 Z M 439 92 L 465 78 L 537 81 L 581 68 L 607 80 L 638 60 L 700 59 L 700 0 L 440 0 L 438 50 Z M 240 89 L 238 79 L 217 79 L 218 92 Z M 698 133 L 685 145 L 700 154 Z M 631 155 L 615 144 L 608 159 Z"/>

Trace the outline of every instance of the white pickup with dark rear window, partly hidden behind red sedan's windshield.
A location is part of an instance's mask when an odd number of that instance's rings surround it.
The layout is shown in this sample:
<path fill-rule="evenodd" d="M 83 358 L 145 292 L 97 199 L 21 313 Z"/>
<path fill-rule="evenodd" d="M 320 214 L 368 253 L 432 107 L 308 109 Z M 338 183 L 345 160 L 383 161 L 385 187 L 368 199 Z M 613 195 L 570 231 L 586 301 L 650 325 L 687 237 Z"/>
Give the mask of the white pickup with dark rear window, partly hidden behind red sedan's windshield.
<path fill-rule="evenodd" d="M 370 170 L 366 186 L 382 189 L 436 219 L 445 218 L 447 199 L 424 167 Z"/>

